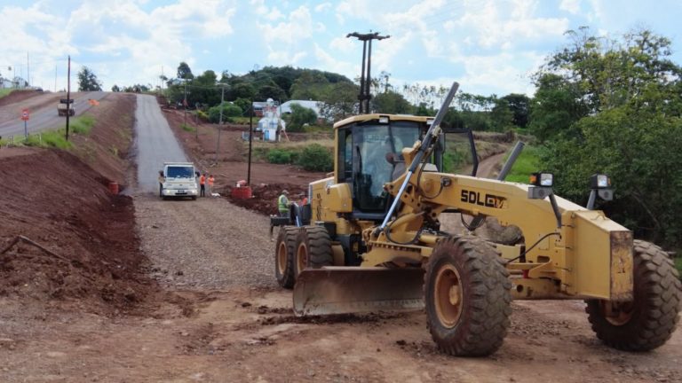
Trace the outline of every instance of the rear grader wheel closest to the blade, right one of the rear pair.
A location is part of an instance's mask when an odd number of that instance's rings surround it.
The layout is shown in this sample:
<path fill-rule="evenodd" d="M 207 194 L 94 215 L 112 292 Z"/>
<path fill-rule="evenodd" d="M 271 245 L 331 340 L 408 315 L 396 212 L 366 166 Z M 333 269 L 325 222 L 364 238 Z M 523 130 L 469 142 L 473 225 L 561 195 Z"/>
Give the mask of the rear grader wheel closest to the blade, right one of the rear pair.
<path fill-rule="evenodd" d="M 306 268 L 320 269 L 334 264 L 331 253 L 331 239 L 327 230 L 321 226 L 304 226 L 296 236 L 296 276 Z"/>

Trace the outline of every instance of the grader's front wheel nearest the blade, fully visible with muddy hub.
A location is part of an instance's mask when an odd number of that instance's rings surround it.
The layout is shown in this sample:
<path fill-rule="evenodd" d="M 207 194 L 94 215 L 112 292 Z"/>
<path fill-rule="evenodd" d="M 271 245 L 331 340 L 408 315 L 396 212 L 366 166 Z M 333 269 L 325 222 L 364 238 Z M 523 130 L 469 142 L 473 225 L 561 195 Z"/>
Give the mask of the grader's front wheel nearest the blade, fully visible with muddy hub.
<path fill-rule="evenodd" d="M 504 261 L 479 238 L 441 240 L 424 275 L 426 322 L 453 356 L 488 356 L 502 346 L 512 314 Z"/>

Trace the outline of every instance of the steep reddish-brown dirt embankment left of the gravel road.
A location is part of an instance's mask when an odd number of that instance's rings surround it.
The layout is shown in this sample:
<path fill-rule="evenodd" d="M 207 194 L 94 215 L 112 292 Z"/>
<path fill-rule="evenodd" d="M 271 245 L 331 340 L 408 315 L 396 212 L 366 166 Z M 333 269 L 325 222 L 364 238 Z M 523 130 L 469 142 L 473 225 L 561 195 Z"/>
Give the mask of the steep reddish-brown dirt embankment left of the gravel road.
<path fill-rule="evenodd" d="M 0 254 L 0 297 L 25 304 L 72 302 L 110 313 L 133 308 L 154 289 L 139 271 L 132 200 L 107 188 L 124 180 L 132 121 L 117 111 L 131 108 L 134 98 L 108 99 L 91 135 L 72 136 L 73 153 L 0 149 L 0 249 L 6 248 Z M 25 241 L 7 247 L 18 236 L 47 251 Z"/>

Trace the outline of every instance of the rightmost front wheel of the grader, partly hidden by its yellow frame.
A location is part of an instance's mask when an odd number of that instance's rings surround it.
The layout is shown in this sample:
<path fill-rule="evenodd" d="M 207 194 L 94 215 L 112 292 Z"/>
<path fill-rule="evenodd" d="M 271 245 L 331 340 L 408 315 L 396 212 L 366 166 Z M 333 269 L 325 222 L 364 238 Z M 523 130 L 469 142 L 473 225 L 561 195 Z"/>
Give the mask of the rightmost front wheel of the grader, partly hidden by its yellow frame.
<path fill-rule="evenodd" d="M 592 331 L 612 348 L 649 351 L 670 339 L 678 323 L 682 284 L 661 247 L 635 240 L 633 300 L 587 300 Z"/>

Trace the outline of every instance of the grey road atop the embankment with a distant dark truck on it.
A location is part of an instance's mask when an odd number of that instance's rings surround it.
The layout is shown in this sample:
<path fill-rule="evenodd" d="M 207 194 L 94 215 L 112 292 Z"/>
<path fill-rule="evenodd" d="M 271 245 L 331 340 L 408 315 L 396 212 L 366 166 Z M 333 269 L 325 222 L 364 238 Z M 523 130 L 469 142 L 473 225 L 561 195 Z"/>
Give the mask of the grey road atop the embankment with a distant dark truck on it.
<path fill-rule="evenodd" d="M 75 105 L 75 116 L 83 114 L 85 111 L 91 108 L 89 99 L 99 100 L 107 96 L 107 92 L 103 91 L 93 91 L 93 92 L 78 92 L 72 93 L 71 98 L 74 99 Z M 57 103 L 59 98 L 67 98 L 66 93 L 46 93 L 45 96 L 39 95 L 36 98 L 48 97 L 54 98 L 53 102 L 44 104 L 36 110 L 30 110 L 30 120 L 28 120 L 27 128 L 28 133 L 37 133 L 46 129 L 55 129 L 66 126 L 66 117 L 60 117 L 57 114 Z M 24 136 L 24 121 L 20 120 L 20 113 L 24 106 L 28 106 L 31 103 L 31 99 L 17 102 L 8 106 L 3 106 L 4 110 L 9 110 L 12 112 L 12 120 L 0 122 L 0 137 L 7 138 L 10 136 Z"/>

